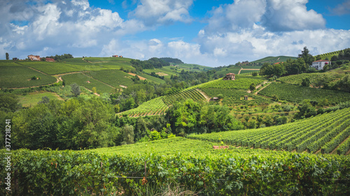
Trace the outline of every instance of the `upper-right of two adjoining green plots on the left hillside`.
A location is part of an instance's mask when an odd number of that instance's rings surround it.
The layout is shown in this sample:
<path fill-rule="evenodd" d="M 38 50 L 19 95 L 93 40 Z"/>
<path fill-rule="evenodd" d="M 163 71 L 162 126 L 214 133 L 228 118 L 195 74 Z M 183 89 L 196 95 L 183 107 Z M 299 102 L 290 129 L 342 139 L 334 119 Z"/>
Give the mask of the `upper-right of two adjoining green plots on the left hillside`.
<path fill-rule="evenodd" d="M 120 88 L 119 85 L 131 86 L 134 84 L 134 82 L 132 82 L 130 79 L 132 75 L 129 75 L 121 70 L 99 70 L 86 73 L 86 75 L 90 75 L 94 79 L 102 81 L 116 88 Z"/>

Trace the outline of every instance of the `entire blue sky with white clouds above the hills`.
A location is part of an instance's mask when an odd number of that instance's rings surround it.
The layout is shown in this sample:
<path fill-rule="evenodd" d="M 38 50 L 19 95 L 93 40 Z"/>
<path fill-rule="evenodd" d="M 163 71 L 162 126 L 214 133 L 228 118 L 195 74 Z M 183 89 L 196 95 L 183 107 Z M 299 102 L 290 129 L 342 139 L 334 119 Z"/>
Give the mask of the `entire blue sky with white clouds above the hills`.
<path fill-rule="evenodd" d="M 0 0 L 0 59 L 178 58 L 228 66 L 350 47 L 350 0 Z"/>

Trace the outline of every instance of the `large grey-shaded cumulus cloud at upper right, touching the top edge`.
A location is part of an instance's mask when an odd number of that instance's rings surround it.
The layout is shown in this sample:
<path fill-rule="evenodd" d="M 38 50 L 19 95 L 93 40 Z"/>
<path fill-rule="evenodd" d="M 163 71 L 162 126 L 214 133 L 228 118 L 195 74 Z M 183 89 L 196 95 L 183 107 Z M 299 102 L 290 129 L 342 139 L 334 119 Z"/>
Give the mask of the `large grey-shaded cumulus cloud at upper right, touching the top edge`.
<path fill-rule="evenodd" d="M 261 24 L 269 31 L 322 29 L 325 20 L 307 10 L 308 0 L 246 0 L 221 5 L 211 11 L 207 33 L 225 33 L 251 29 Z"/>

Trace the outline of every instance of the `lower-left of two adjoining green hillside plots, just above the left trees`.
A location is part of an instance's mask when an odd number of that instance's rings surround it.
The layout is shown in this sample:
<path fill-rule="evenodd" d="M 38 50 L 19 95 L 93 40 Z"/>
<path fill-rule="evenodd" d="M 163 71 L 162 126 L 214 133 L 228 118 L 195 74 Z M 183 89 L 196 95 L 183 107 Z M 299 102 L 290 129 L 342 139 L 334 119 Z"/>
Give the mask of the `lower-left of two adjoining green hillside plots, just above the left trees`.
<path fill-rule="evenodd" d="M 111 93 L 113 92 L 113 88 L 108 86 L 98 80 L 89 77 L 83 73 L 74 73 L 69 75 L 62 76 L 63 81 L 66 85 L 70 85 L 73 83 L 78 84 L 79 86 L 84 86 L 86 89 L 92 90 L 93 87 L 96 87 L 97 93 Z M 88 83 L 89 81 L 90 83 Z"/>

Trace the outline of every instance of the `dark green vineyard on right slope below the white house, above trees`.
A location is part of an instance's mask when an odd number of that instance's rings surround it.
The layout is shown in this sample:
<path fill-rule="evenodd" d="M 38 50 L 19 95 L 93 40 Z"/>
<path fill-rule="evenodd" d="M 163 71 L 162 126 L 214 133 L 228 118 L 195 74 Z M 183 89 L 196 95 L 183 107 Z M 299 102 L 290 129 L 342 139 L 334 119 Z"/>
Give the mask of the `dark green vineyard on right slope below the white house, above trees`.
<path fill-rule="evenodd" d="M 277 96 L 281 100 L 288 100 L 295 103 L 300 103 L 304 99 L 318 101 L 326 98 L 331 105 L 335 105 L 350 100 L 350 93 L 343 91 L 315 89 L 307 86 L 281 84 L 277 82 L 262 89 L 258 94 L 268 97 Z"/>

